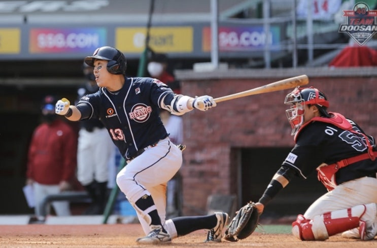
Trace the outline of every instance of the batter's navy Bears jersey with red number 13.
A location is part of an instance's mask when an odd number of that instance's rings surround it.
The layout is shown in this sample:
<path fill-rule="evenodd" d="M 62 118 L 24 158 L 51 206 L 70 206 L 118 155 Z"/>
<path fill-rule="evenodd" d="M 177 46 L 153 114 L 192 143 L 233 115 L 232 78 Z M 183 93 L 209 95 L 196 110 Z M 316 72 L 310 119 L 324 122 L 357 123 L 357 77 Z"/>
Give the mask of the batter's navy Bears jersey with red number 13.
<path fill-rule="evenodd" d="M 100 88 L 82 97 L 77 107 L 82 113 L 89 111 L 89 118 L 100 119 L 121 154 L 129 159 L 139 149 L 168 136 L 159 117 L 162 97 L 174 97 L 163 82 L 150 77 L 133 77 L 125 78 L 122 89 L 117 92 Z"/>

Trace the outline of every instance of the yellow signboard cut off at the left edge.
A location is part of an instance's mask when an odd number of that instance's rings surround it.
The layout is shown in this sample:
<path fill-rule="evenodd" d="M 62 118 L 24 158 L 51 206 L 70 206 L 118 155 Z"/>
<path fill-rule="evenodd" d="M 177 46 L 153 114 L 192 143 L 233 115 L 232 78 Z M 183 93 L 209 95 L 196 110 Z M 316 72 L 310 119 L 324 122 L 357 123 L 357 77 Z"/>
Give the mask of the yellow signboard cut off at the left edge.
<path fill-rule="evenodd" d="M 0 54 L 18 54 L 21 47 L 21 31 L 18 28 L 0 28 Z"/>

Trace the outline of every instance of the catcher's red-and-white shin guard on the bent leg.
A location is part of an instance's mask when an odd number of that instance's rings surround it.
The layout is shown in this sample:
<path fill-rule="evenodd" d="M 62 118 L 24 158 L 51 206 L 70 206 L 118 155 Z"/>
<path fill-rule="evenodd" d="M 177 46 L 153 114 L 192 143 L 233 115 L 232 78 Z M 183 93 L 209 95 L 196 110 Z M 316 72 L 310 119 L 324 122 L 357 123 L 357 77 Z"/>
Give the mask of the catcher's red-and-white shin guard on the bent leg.
<path fill-rule="evenodd" d="M 292 223 L 292 234 L 301 240 L 325 240 L 329 236 L 358 227 L 364 212 L 365 205 L 357 205 L 315 216 L 313 220 L 299 215 Z"/>

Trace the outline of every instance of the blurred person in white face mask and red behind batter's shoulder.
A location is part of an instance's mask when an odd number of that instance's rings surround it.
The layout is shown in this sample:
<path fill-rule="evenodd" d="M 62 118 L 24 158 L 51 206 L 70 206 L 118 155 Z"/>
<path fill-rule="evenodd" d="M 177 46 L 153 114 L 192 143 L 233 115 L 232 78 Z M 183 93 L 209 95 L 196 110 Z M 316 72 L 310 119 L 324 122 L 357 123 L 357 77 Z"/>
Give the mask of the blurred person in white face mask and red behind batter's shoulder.
<path fill-rule="evenodd" d="M 181 94 L 179 81 L 167 70 L 167 56 L 165 54 L 154 53 L 147 66 L 151 77 L 164 82 L 176 94 Z"/>

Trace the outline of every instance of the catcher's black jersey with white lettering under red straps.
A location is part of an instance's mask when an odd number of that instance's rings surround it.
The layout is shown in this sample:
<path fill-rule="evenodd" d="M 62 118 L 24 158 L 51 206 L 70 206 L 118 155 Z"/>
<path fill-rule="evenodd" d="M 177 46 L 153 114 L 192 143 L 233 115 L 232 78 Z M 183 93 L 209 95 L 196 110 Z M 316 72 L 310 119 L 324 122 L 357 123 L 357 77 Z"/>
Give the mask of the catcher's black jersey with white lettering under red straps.
<path fill-rule="evenodd" d="M 352 120 L 347 119 L 354 131 L 363 132 Z M 375 149 L 374 139 L 368 136 L 370 144 Z M 296 139 L 296 145 L 283 162 L 296 171 L 296 175 L 306 177 L 322 163 L 332 164 L 339 160 L 367 152 L 365 138 L 361 134 L 342 130 L 341 128 L 321 121 L 313 121 L 303 127 Z M 377 159 L 362 160 L 337 171 L 336 183 L 375 175 Z"/>

